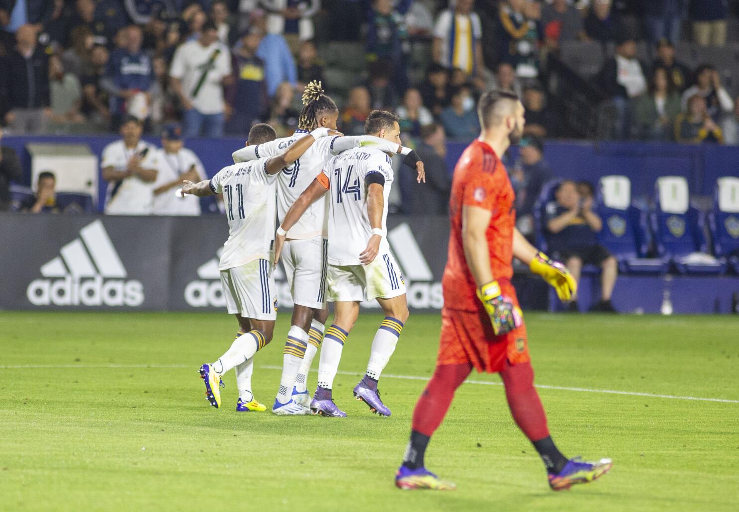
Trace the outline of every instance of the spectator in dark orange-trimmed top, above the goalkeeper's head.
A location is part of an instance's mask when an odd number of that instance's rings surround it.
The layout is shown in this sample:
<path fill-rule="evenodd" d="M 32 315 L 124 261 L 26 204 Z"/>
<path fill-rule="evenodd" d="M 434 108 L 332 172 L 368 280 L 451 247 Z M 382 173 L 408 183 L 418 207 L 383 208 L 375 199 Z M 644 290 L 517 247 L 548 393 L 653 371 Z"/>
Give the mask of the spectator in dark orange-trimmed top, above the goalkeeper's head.
<path fill-rule="evenodd" d="M 531 2 L 531 5 L 537 2 Z M 513 66 L 521 78 L 539 76 L 539 41 L 541 23 L 528 18 L 524 9 L 526 0 L 507 0 L 500 4 L 495 33 L 497 34 L 497 61 Z"/>

